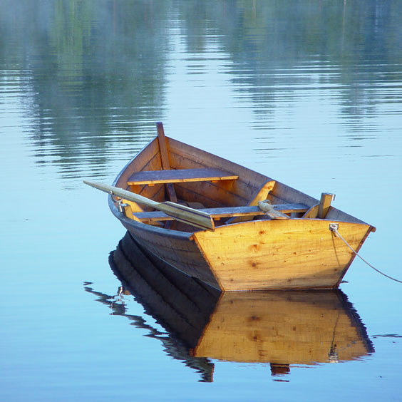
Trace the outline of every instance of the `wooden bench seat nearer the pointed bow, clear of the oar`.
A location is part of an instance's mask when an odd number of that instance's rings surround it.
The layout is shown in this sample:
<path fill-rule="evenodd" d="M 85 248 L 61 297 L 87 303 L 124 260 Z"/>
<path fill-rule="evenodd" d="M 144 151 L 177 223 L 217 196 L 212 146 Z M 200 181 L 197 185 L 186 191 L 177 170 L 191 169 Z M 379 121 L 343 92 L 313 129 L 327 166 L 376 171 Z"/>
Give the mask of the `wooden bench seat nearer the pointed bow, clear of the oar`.
<path fill-rule="evenodd" d="M 128 185 L 155 185 L 179 182 L 203 182 L 218 180 L 235 180 L 238 175 L 223 169 L 177 169 L 177 170 L 144 170 L 131 175 Z"/>

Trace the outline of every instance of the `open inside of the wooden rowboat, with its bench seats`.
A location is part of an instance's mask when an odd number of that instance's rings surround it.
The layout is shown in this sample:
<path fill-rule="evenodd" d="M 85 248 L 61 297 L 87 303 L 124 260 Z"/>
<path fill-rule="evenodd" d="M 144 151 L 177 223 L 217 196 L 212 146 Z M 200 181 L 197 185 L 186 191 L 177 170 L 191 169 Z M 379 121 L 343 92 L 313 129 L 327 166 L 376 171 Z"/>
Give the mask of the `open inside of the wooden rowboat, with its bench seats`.
<path fill-rule="evenodd" d="M 156 202 L 170 201 L 207 212 L 215 227 L 292 218 L 364 223 L 331 207 L 333 194 L 322 193 L 321 200 L 316 200 L 270 177 L 168 138 L 162 123 L 157 123 L 157 129 L 158 136 L 120 173 L 114 183 L 117 187 Z M 115 202 L 132 220 L 181 232 L 195 230 L 136 202 Z"/>

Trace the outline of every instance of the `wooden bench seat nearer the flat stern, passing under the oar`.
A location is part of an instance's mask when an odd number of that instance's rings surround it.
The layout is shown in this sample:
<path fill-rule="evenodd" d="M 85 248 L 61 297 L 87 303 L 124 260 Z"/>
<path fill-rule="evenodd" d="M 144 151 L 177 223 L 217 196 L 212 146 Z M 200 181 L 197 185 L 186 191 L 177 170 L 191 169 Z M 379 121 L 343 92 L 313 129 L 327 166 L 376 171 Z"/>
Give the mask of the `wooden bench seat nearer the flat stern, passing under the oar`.
<path fill-rule="evenodd" d="M 279 204 L 272 205 L 274 210 L 289 214 L 292 212 L 306 212 L 309 207 L 304 204 Z M 239 216 L 258 216 L 264 215 L 264 211 L 259 207 L 222 207 L 222 208 L 203 208 L 200 211 L 210 214 L 213 218 L 239 217 Z M 172 220 L 173 218 L 160 211 L 135 212 L 133 214 L 140 222 L 156 222 Z"/>

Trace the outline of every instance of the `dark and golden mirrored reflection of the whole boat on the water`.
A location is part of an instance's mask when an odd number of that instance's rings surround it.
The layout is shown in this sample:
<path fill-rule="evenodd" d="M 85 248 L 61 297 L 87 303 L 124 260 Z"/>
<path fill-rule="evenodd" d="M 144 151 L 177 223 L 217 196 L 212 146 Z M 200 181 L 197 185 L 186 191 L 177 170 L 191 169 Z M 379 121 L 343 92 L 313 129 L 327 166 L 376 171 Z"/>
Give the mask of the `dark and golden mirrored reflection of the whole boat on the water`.
<path fill-rule="evenodd" d="M 121 294 L 133 294 L 168 331 L 168 354 L 197 369 L 201 381 L 212 381 L 210 359 L 269 363 L 277 377 L 292 364 L 350 361 L 373 352 L 364 324 L 339 290 L 221 293 L 138 248 L 128 233 L 110 253 L 110 267 L 123 285 L 120 296 L 86 290 L 113 314 L 145 327 L 141 317 L 126 314 Z"/>

